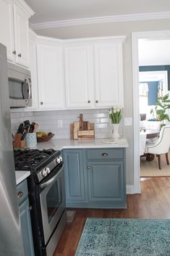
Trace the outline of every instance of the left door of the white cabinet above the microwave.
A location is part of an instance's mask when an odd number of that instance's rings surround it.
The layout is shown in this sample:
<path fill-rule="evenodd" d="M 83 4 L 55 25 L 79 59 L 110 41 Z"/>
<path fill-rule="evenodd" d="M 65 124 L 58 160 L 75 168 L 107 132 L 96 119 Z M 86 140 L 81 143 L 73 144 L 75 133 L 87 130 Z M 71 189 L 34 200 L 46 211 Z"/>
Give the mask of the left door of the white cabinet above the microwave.
<path fill-rule="evenodd" d="M 14 61 L 13 4 L 10 0 L 0 0 L 0 43 L 7 46 L 7 57 Z"/>

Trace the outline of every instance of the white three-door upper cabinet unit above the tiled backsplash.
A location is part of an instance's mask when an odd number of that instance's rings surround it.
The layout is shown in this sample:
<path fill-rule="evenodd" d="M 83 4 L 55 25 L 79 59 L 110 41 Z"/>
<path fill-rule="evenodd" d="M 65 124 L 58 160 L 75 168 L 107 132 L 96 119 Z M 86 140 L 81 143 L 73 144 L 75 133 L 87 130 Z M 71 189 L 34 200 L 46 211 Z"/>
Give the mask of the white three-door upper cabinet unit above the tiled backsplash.
<path fill-rule="evenodd" d="M 124 39 L 38 36 L 39 109 L 123 107 Z"/>

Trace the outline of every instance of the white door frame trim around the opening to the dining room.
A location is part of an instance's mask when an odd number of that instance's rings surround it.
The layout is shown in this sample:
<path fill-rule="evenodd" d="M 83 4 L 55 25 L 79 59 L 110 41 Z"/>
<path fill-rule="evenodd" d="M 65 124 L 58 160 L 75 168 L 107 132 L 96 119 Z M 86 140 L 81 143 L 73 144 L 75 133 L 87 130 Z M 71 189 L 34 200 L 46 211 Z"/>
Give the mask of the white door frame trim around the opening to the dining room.
<path fill-rule="evenodd" d="M 139 40 L 170 40 L 170 30 L 132 33 L 133 114 L 134 114 L 134 192 L 140 193 L 139 124 Z"/>

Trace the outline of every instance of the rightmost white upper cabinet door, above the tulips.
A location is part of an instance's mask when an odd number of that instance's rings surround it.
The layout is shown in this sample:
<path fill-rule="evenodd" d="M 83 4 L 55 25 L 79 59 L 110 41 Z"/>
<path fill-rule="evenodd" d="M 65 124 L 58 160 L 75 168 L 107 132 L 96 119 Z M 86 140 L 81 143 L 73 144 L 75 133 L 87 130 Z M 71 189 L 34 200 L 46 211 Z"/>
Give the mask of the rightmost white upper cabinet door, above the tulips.
<path fill-rule="evenodd" d="M 123 105 L 122 44 L 95 45 L 95 107 Z"/>

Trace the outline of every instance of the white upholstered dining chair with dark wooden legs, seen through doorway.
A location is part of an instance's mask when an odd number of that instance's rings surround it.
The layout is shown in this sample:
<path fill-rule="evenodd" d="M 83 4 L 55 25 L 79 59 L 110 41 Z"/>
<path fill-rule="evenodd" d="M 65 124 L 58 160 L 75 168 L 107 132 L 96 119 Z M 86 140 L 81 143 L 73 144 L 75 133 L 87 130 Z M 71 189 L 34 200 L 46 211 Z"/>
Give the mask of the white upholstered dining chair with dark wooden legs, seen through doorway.
<path fill-rule="evenodd" d="M 146 143 L 145 153 L 156 154 L 158 167 L 161 170 L 161 154 L 166 154 L 166 163 L 169 165 L 170 125 L 161 128 L 160 136 L 154 143 Z"/>

